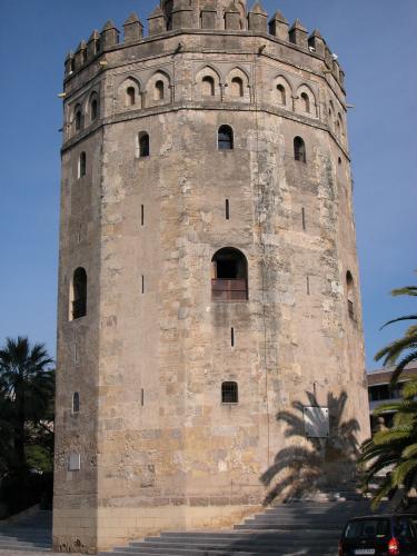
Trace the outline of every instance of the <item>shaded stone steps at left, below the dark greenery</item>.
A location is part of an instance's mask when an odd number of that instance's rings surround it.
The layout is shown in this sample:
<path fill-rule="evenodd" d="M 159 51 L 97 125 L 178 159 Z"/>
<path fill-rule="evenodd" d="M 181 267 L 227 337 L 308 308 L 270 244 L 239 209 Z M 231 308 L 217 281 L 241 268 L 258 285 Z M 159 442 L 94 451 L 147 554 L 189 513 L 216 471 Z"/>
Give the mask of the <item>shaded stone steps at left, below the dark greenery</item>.
<path fill-rule="evenodd" d="M 16 523 L 0 522 L 0 550 L 50 552 L 52 512 L 39 510 Z"/>

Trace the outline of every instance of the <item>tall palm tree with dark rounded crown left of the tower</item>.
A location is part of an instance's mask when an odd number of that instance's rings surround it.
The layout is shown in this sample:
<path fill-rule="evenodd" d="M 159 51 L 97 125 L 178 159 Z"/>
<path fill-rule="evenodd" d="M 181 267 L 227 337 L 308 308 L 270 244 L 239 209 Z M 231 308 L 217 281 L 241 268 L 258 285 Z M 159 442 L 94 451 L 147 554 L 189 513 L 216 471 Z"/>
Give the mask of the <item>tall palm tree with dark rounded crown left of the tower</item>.
<path fill-rule="evenodd" d="M 24 447 L 30 428 L 51 414 L 54 391 L 51 364 L 44 345 L 31 346 L 28 338 L 7 338 L 0 349 L 0 444 L 12 446 L 6 465 L 16 470 L 27 468 Z"/>

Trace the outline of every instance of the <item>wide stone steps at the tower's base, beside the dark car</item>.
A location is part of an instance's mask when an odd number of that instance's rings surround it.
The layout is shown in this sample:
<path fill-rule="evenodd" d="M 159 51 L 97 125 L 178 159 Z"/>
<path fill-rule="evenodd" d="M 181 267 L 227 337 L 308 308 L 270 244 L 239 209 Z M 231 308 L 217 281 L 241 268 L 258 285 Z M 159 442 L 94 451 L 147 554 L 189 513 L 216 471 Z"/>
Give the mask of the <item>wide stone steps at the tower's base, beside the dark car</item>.
<path fill-rule="evenodd" d="M 295 502 L 266 509 L 231 530 L 163 533 L 101 556 L 336 556 L 347 519 L 369 512 L 367 502 Z"/>

